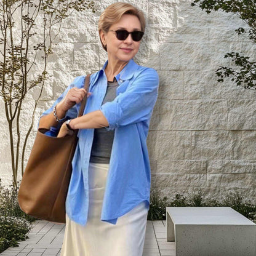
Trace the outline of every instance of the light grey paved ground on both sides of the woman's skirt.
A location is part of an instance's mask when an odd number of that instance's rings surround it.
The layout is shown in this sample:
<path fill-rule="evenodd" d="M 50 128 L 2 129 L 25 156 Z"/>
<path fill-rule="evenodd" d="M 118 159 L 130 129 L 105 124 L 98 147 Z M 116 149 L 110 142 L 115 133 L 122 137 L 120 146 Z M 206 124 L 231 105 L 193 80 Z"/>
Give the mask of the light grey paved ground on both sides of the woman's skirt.
<path fill-rule="evenodd" d="M 65 224 L 38 220 L 28 233 L 29 239 L 9 247 L 1 256 L 59 256 Z M 143 256 L 174 256 L 174 242 L 166 241 L 166 220 L 147 221 Z M 81 255 L 82 256 L 82 255 Z"/>

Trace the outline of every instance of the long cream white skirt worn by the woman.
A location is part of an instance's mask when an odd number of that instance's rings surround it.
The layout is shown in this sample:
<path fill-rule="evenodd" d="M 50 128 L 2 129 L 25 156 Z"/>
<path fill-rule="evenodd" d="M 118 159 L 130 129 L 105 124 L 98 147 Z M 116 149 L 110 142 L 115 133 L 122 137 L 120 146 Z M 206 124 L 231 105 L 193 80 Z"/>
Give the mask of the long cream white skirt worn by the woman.
<path fill-rule="evenodd" d="M 143 201 L 118 218 L 100 220 L 109 164 L 89 163 L 89 212 L 86 226 L 68 218 L 60 256 L 142 256 L 148 209 Z"/>

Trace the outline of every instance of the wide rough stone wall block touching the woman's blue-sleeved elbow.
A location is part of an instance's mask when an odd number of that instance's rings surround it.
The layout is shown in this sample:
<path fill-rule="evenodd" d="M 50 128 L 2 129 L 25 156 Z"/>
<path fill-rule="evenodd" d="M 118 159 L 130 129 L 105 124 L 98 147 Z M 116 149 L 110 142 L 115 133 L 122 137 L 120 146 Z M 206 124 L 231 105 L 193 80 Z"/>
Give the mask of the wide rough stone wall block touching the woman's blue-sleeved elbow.
<path fill-rule="evenodd" d="M 152 129 L 226 129 L 228 110 L 225 100 L 158 100 Z"/>

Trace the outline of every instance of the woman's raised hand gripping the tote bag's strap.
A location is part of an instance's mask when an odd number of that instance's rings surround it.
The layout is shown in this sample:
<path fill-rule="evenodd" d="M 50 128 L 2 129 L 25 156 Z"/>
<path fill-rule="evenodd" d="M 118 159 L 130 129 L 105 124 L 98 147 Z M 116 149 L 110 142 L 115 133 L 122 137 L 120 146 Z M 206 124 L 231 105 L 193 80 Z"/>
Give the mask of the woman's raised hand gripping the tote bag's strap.
<path fill-rule="evenodd" d="M 91 95 L 91 92 L 88 92 L 87 98 Z M 79 103 L 82 101 L 84 96 L 86 95 L 86 89 L 78 87 L 73 87 L 70 90 L 68 90 L 68 93 L 63 98 L 63 100 L 58 103 L 59 106 L 62 106 L 63 111 L 68 111 L 70 108 L 72 108 L 76 103 Z"/>

